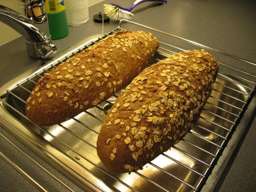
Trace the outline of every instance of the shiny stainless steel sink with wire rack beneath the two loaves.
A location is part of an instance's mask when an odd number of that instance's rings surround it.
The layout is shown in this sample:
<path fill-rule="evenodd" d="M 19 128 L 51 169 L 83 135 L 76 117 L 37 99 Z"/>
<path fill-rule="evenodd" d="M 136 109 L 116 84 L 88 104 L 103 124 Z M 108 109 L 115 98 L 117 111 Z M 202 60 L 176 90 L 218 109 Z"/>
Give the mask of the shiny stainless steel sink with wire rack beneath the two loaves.
<path fill-rule="evenodd" d="M 207 181 L 255 92 L 255 75 L 232 68 L 230 62 L 243 62 L 249 68 L 251 62 L 127 21 L 121 22 L 119 27 L 98 40 L 125 29 L 122 26 L 151 31 L 159 38 L 160 48 L 151 64 L 173 53 L 194 48 L 207 49 L 219 61 L 220 71 L 212 95 L 196 126 L 183 140 L 145 165 L 143 170 L 117 174 L 102 165 L 97 156 L 96 141 L 102 121 L 118 93 L 97 107 L 51 127 L 38 127 L 24 116 L 25 101 L 43 73 L 83 51 L 89 44 L 77 46 L 67 55 L 5 90 L 1 96 L 1 113 L 5 118 L 3 121 L 11 122 L 5 123 L 5 127 L 87 190 L 198 191 Z M 95 41 L 90 44 L 93 43 Z"/>

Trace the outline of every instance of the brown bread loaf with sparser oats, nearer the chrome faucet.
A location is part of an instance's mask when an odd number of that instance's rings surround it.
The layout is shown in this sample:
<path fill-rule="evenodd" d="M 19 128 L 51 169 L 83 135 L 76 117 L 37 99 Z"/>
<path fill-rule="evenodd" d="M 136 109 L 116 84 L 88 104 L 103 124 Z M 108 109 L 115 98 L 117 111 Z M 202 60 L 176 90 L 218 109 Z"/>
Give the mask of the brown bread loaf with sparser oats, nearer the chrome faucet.
<path fill-rule="evenodd" d="M 143 31 L 99 41 L 44 74 L 27 99 L 27 117 L 51 126 L 100 104 L 131 82 L 158 47 L 156 37 Z"/>

